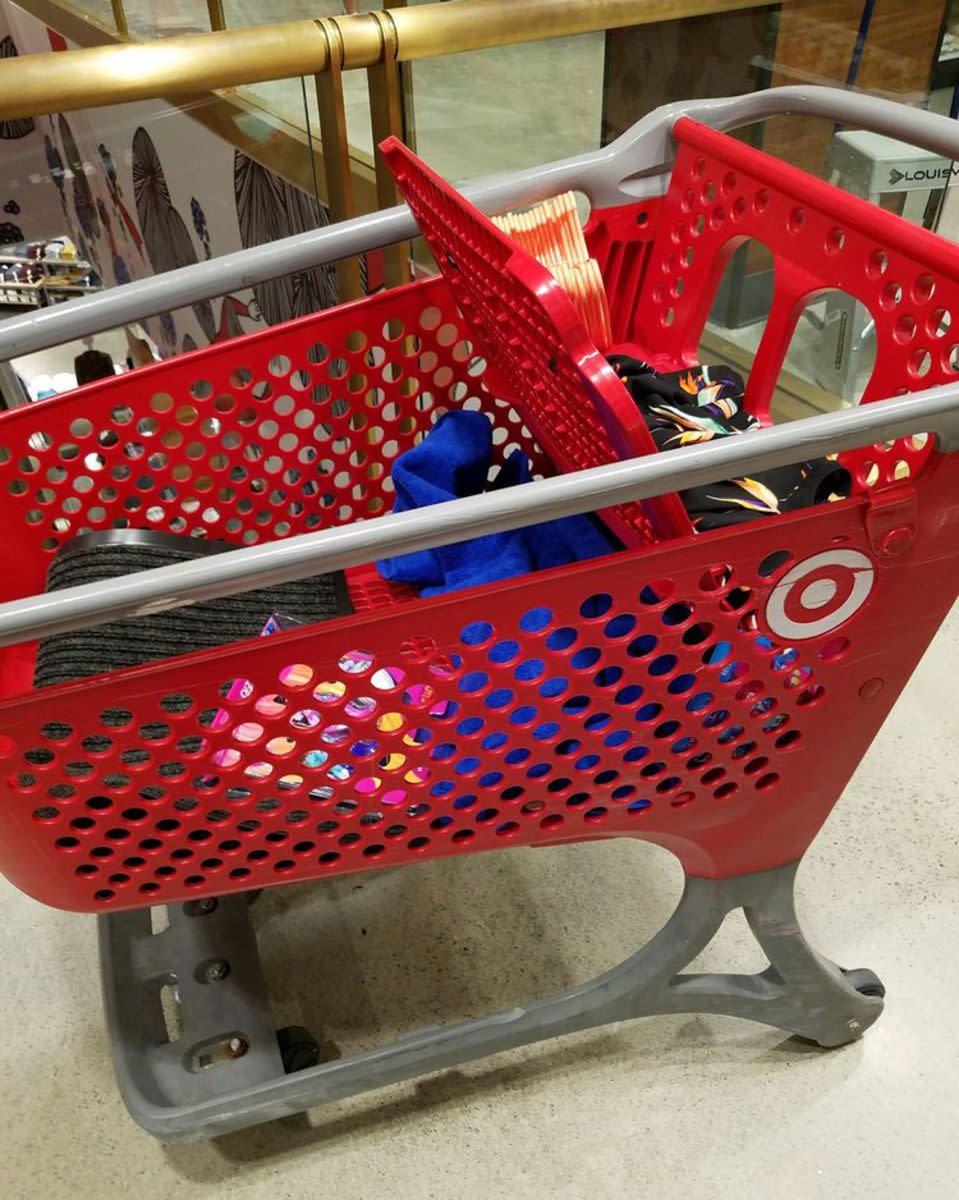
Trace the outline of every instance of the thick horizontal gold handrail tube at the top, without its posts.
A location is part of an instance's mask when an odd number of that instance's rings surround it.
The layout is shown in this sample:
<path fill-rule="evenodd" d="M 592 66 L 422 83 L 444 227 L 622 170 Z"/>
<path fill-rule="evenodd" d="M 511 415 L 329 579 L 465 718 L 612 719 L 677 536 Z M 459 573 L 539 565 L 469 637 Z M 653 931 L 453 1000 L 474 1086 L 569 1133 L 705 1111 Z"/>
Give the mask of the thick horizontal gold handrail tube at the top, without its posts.
<path fill-rule="evenodd" d="M 767 6 L 769 0 L 457 0 L 394 8 L 400 62 L 492 46 L 535 42 L 627 25 Z M 328 18 L 342 35 L 342 70 L 370 67 L 385 52 L 376 13 Z M 0 118 L 38 116 L 157 96 L 196 96 L 220 88 L 328 70 L 319 23 L 187 34 L 151 42 L 98 46 L 67 54 L 25 54 L 0 64 Z"/>

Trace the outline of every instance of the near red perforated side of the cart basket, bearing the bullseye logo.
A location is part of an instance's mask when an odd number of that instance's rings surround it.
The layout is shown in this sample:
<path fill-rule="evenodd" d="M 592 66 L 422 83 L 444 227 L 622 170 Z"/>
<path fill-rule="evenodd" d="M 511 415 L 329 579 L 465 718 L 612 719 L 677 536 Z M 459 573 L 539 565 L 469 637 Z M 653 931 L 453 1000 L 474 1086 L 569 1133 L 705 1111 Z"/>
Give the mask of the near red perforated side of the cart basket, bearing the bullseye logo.
<path fill-rule="evenodd" d="M 955 596 L 955 545 L 924 562 L 951 462 L 888 564 L 846 502 L 7 702 L 0 866 L 115 908 L 618 834 L 696 874 L 797 858 Z M 771 638 L 837 548 L 867 596 Z"/>

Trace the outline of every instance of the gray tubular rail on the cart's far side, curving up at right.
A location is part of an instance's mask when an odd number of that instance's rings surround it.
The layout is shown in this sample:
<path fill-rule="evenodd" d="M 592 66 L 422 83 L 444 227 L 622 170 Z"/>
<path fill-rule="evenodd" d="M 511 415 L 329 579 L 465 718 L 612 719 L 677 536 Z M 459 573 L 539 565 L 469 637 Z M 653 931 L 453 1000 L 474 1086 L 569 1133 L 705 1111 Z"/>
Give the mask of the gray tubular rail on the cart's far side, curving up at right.
<path fill-rule="evenodd" d="M 667 104 L 601 150 L 479 180 L 463 191 L 485 212 L 533 204 L 568 190 L 585 192 L 595 208 L 629 204 L 664 191 L 671 130 L 678 118 L 730 130 L 780 114 L 823 116 L 959 160 L 959 126 L 947 116 L 835 88 L 772 88 L 731 100 Z M 0 361 L 378 250 L 416 233 L 409 209 L 400 205 L 24 313 L 2 323 Z"/>

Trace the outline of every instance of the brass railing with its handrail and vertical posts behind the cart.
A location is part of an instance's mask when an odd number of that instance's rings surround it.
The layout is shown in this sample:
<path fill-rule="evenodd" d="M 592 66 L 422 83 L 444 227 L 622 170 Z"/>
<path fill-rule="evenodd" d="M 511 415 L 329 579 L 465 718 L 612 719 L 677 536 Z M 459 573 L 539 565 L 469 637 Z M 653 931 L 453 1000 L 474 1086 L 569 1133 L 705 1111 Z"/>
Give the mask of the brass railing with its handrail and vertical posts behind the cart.
<path fill-rule="evenodd" d="M 236 139 L 228 109 L 253 107 L 230 89 L 290 77 L 313 78 L 319 145 L 288 125 L 296 152 L 282 172 L 299 186 L 322 182 L 318 196 L 334 220 L 396 203 L 392 176 L 380 162 L 350 148 L 346 131 L 343 72 L 366 70 L 373 143 L 402 136 L 402 64 L 468 50 L 538 42 L 687 17 L 766 7 L 769 0 L 456 0 L 415 5 L 384 0 L 383 10 L 283 24 L 226 29 L 223 0 L 206 0 L 211 32 L 138 41 L 124 0 L 112 0 L 115 34 L 78 8 L 82 0 L 23 0 L 28 11 L 66 36 L 98 32 L 109 44 L 67 54 L 30 54 L 0 65 L 0 119 L 163 98 L 181 102 L 196 119 Z M 60 18 L 60 19 L 58 19 Z M 197 103 L 205 97 L 205 103 Z M 187 103 L 188 102 L 188 103 Z M 263 109 L 265 106 L 259 106 Z M 308 124 L 308 119 L 307 119 Z M 240 143 L 238 142 L 238 145 Z M 241 149 L 252 150 L 247 145 Z M 289 162 L 289 157 L 296 160 Z M 362 160 L 366 161 L 362 161 Z M 274 162 L 268 162 L 271 169 Z M 355 186 L 354 186 L 355 185 Z M 385 277 L 400 282 L 400 247 L 388 252 Z M 360 293 L 355 260 L 337 268 L 343 299 Z"/>

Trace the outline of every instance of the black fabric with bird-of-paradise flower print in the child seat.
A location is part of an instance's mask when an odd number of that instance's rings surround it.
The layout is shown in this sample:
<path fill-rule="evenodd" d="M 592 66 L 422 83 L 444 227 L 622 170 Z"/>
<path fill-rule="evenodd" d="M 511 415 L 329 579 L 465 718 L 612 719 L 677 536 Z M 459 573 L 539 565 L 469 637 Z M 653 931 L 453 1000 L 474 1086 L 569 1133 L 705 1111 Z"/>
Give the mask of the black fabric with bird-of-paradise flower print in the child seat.
<path fill-rule="evenodd" d="M 625 384 L 659 450 L 699 445 L 750 433 L 760 422 L 743 406 L 743 378 L 731 367 L 694 366 L 660 373 L 646 362 L 613 354 L 610 365 Z M 681 492 L 693 527 L 721 529 L 757 517 L 845 499 L 852 478 L 832 457 Z"/>

